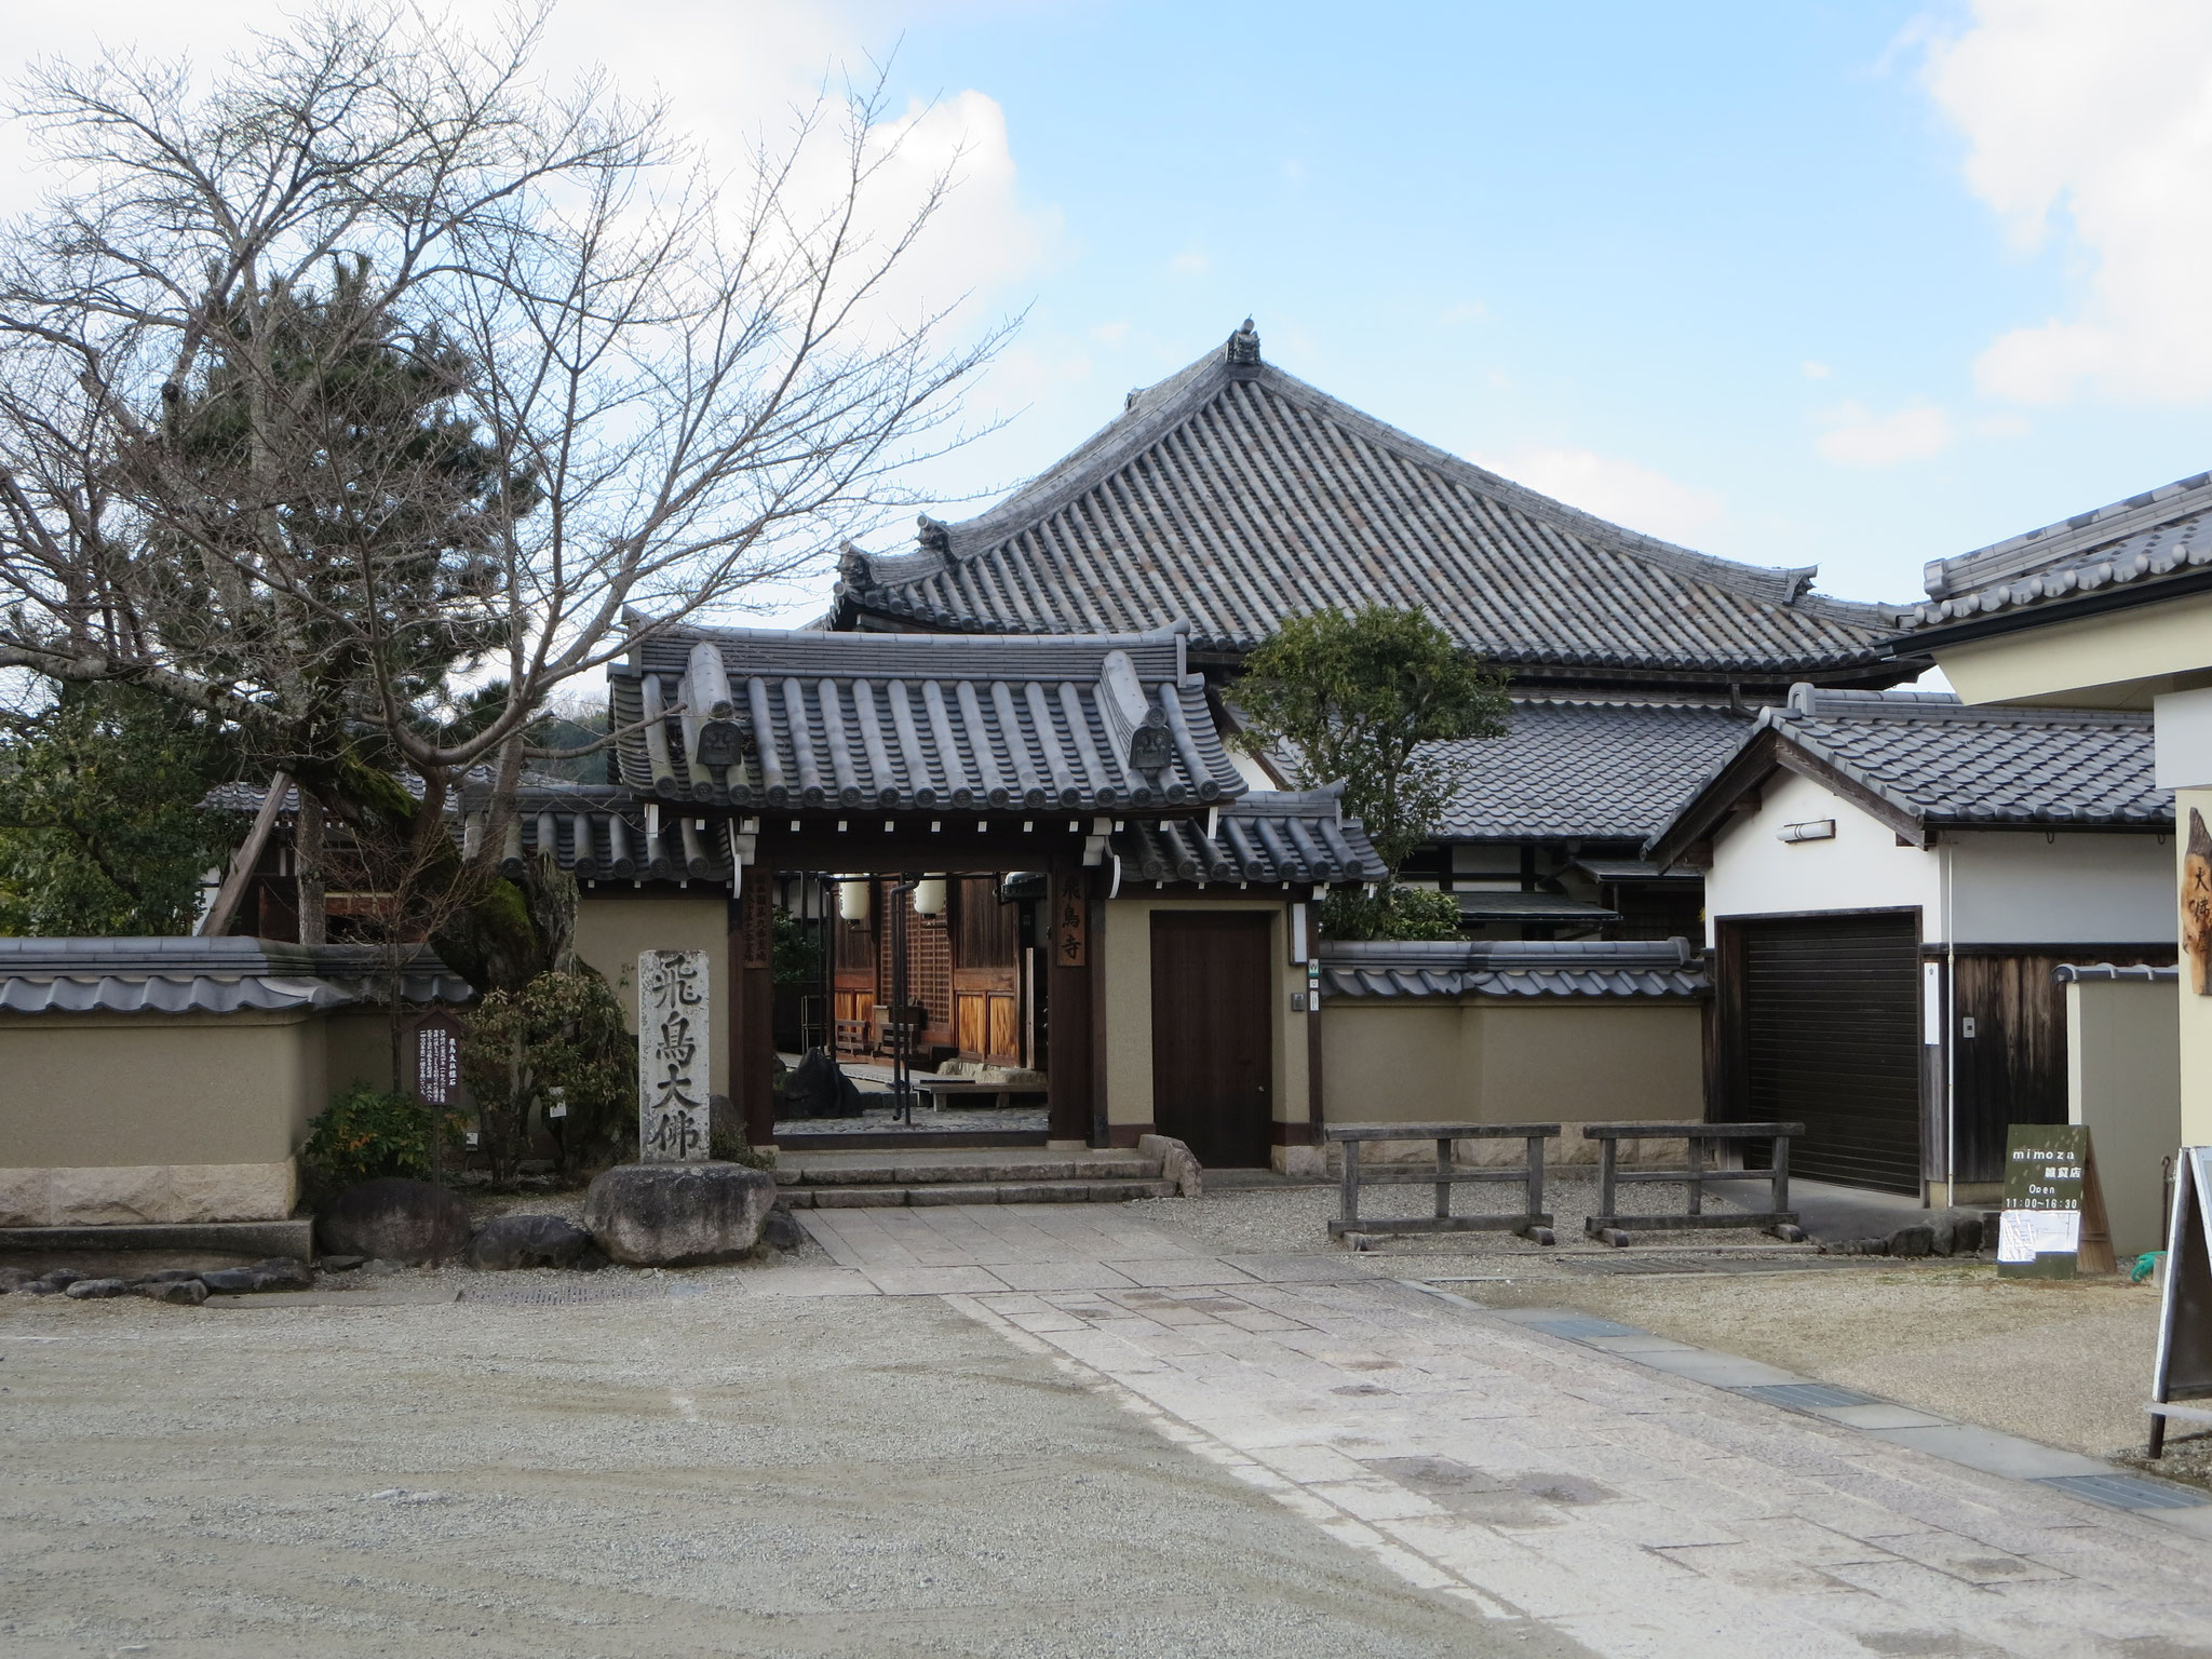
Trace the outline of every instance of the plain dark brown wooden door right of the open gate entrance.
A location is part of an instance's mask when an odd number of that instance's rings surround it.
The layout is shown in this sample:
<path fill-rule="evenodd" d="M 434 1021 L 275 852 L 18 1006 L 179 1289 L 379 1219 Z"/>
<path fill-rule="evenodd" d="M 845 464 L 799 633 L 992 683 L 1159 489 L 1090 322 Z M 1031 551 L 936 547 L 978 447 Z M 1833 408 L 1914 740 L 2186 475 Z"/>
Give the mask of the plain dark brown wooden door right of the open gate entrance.
<path fill-rule="evenodd" d="M 1270 916 L 1152 916 L 1152 1121 L 1199 1164 L 1267 1166 L 1274 1119 Z"/>

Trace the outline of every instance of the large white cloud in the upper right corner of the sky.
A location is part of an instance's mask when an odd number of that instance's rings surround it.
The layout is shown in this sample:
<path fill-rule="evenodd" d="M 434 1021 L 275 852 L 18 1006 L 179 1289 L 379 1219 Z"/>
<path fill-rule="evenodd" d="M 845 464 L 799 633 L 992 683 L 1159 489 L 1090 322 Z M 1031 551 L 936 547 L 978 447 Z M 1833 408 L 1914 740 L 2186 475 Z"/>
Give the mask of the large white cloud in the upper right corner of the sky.
<path fill-rule="evenodd" d="M 1927 86 L 1966 135 L 1966 181 L 2013 241 L 2081 254 L 2073 314 L 1982 352 L 1984 392 L 2062 403 L 2212 396 L 2212 7 L 1975 0 L 1927 46 Z"/>

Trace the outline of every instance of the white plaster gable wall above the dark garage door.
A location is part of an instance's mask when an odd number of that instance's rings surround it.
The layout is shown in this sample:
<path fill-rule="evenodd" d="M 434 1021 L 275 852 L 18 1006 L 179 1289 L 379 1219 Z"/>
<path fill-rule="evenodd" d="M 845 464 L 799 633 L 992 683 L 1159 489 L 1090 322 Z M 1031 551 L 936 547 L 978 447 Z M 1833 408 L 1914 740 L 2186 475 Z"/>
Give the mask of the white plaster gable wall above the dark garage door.
<path fill-rule="evenodd" d="M 1834 841 L 1776 841 L 1785 823 L 1836 821 Z M 2042 838 L 2037 836 L 2037 845 Z M 1776 772 L 1759 812 L 1712 843 L 1705 876 L 1705 942 L 1714 918 L 1920 905 L 1922 936 L 1938 938 L 1942 872 L 1933 852 L 1900 847 L 1898 832 L 1812 779 Z"/>

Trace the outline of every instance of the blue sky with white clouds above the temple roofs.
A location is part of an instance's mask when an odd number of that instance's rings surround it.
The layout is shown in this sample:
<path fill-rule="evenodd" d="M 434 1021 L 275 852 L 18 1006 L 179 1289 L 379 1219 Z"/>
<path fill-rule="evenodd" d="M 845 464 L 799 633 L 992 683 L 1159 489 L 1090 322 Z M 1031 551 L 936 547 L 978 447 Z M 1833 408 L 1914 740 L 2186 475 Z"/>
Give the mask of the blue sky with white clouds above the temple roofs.
<path fill-rule="evenodd" d="M 206 53 L 268 15 L 188 13 L 20 46 Z M 1026 307 L 971 405 L 1009 425 L 931 467 L 945 498 L 1248 312 L 1429 442 L 1847 597 L 2212 465 L 2201 0 L 564 0 L 551 46 L 717 142 L 894 49 L 918 150 L 967 144 L 916 281 Z"/>

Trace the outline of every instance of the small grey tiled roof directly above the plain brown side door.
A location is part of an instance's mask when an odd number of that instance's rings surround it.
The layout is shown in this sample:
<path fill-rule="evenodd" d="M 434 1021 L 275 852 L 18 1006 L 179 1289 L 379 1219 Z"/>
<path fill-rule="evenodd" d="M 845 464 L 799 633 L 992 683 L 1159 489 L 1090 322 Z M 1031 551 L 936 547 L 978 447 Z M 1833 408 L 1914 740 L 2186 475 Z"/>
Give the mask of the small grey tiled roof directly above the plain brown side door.
<path fill-rule="evenodd" d="M 1130 823 L 1115 834 L 1121 878 L 1150 883 L 1376 883 L 1389 869 L 1358 818 L 1343 816 L 1343 785 L 1263 792 L 1203 818 Z"/>

